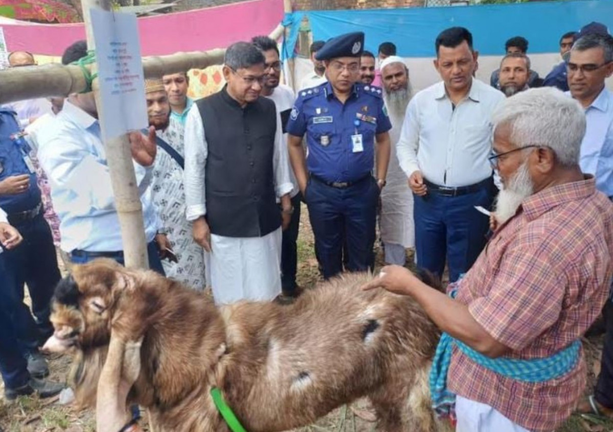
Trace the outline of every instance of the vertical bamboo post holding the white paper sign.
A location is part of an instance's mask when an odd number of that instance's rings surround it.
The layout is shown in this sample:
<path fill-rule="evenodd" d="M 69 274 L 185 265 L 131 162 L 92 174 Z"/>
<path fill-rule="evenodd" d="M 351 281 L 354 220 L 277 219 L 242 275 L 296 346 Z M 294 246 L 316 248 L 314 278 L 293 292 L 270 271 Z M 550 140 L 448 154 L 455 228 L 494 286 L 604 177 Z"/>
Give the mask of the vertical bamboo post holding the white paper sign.
<path fill-rule="evenodd" d="M 110 0 L 81 0 L 83 7 L 83 20 L 87 35 L 89 50 L 96 49 L 96 40 L 91 26 L 90 10 L 99 8 L 111 10 Z M 104 41 L 100 41 L 104 42 Z M 93 65 L 95 69 L 95 65 Z M 100 97 L 97 81 L 93 83 L 96 107 L 101 125 L 105 119 L 102 115 L 104 100 Z M 101 127 L 104 131 L 104 127 Z M 113 194 L 115 195 L 115 208 L 121 226 L 121 239 L 123 240 L 123 254 L 126 267 L 148 268 L 147 241 L 145 240 L 145 224 L 143 222 L 142 204 L 134 174 L 132 153 L 127 134 L 121 137 L 109 138 L 104 136 L 104 150 L 109 164 Z"/>

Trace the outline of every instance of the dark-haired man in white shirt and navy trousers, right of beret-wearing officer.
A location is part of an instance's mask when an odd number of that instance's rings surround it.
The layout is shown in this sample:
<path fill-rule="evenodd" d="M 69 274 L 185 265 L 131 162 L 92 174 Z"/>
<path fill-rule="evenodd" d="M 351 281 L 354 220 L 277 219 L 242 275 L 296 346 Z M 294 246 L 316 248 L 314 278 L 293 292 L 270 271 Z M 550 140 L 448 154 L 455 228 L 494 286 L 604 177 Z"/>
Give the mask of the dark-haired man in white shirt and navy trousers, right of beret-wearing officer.
<path fill-rule="evenodd" d="M 495 186 L 490 116 L 504 99 L 473 78 L 473 36 L 454 27 L 436 38 L 443 81 L 417 93 L 407 108 L 397 151 L 414 194 L 417 265 L 455 281 L 485 245 Z"/>

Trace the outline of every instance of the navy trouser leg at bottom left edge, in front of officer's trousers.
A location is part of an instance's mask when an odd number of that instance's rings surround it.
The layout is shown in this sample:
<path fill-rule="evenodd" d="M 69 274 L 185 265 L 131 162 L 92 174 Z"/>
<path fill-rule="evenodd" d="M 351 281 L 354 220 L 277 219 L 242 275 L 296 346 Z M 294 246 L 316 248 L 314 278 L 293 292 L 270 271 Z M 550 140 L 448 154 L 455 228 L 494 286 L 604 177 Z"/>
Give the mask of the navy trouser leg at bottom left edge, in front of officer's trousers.
<path fill-rule="evenodd" d="M 2 254 L 4 255 L 4 254 Z M 29 379 L 26 359 L 18 348 L 17 332 L 11 319 L 10 302 L 6 291 L 0 291 L 0 374 L 4 387 L 18 388 Z"/>

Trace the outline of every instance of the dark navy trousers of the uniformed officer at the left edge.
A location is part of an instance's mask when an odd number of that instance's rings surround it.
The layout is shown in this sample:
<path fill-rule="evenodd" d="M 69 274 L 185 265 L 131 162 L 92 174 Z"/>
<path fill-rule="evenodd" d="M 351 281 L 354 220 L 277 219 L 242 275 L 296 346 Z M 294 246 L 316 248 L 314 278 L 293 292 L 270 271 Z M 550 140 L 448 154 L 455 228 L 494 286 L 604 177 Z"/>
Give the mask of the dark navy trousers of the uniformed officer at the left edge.
<path fill-rule="evenodd" d="M 42 213 L 31 221 L 16 224 L 23 241 L 17 248 L 1 254 L 1 290 L 12 292 L 12 320 L 18 338 L 28 349 L 36 349 L 53 334 L 49 321 L 51 297 L 60 279 L 58 259 L 53 246 L 51 229 Z M 32 299 L 32 319 L 23 303 L 24 286 Z M 34 329 L 32 328 L 34 326 Z"/>

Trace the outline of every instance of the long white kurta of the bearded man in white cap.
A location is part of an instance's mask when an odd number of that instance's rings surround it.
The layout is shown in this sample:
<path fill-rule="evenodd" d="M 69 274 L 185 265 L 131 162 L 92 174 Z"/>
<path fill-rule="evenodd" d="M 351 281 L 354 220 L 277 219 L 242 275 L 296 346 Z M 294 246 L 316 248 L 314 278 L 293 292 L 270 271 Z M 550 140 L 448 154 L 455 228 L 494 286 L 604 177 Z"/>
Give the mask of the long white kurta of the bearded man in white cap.
<path fill-rule="evenodd" d="M 387 184 L 381 191 L 381 218 L 379 219 L 381 240 L 383 243 L 414 248 L 413 194 L 409 189 L 405 173 L 400 169 L 396 150 L 403 118 L 390 113 L 390 121 L 392 129 L 389 131 L 389 137 L 392 148 L 387 167 Z"/>

